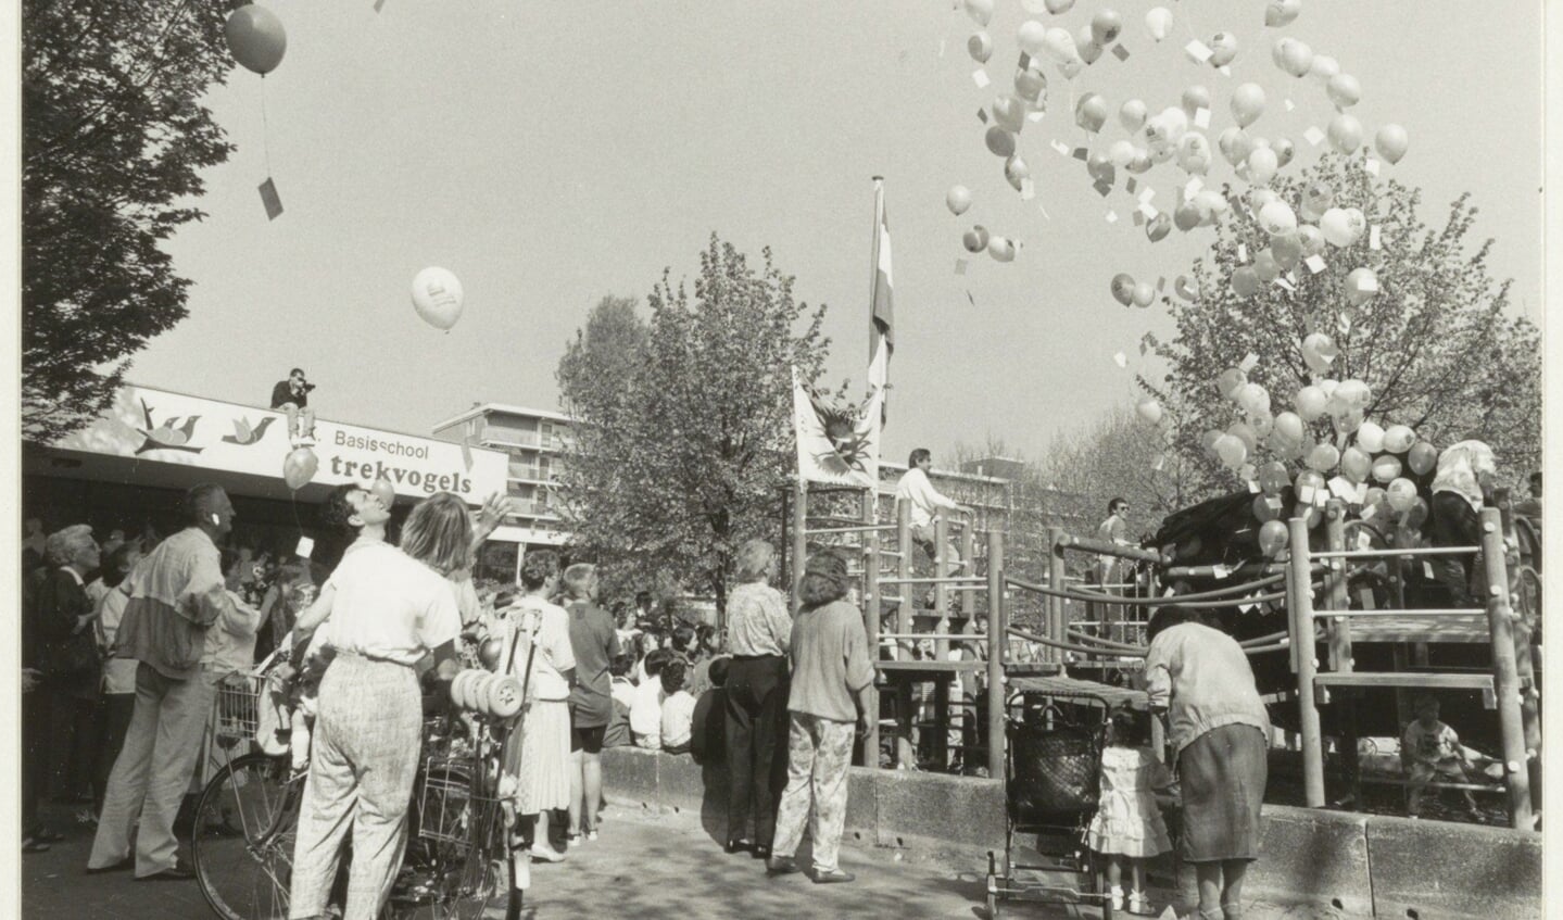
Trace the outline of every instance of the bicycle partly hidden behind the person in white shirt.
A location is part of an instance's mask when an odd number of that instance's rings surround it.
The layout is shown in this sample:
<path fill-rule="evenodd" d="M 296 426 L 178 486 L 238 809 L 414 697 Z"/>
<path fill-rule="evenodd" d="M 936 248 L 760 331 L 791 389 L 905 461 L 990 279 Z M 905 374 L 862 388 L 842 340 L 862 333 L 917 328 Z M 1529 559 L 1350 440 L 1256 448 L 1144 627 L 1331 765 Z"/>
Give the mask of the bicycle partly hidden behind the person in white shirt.
<path fill-rule="evenodd" d="M 224 731 L 253 734 L 266 692 L 264 665 L 220 686 Z M 458 725 L 466 725 L 470 737 L 458 737 Z M 510 731 L 503 719 L 425 720 L 406 854 L 381 917 L 478 920 L 500 904 L 506 918 L 519 917 L 522 892 L 514 884 L 497 795 L 499 751 Z M 286 920 L 305 776 L 286 750 L 250 753 L 227 764 L 202 790 L 191 851 L 202 895 L 224 920 Z M 517 853 L 527 859 L 525 851 Z"/>

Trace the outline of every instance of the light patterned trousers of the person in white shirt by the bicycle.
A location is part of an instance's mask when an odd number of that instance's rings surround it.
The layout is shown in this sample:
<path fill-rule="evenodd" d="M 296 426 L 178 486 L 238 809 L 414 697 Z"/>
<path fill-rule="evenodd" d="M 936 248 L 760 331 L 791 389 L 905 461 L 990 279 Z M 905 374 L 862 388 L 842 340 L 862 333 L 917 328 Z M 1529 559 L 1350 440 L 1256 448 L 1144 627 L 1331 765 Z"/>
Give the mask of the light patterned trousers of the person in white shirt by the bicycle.
<path fill-rule="evenodd" d="M 413 669 L 353 654 L 338 654 L 327 669 L 299 809 L 291 918 L 325 914 L 349 828 L 353 862 L 342 920 L 380 915 L 402 867 L 422 722 Z"/>

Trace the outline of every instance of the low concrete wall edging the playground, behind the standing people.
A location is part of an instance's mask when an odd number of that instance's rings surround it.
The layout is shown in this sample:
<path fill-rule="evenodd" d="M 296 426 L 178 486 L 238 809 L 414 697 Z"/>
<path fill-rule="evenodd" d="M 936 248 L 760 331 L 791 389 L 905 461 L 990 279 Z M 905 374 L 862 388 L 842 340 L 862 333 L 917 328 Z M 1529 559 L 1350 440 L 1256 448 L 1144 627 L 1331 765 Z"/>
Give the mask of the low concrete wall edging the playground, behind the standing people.
<path fill-rule="evenodd" d="M 608 748 L 603 792 L 616 804 L 699 815 L 727 836 L 727 772 L 688 756 Z M 996 779 L 853 767 L 846 840 L 986 872 L 1003 851 Z M 1157 872 L 1161 868 L 1163 872 Z M 1153 875 L 1171 867 L 1152 865 Z M 1179 879 L 1191 889 L 1189 872 Z M 1244 898 L 1383 920 L 1529 920 L 1541 911 L 1541 834 L 1443 822 L 1264 808 L 1263 856 Z"/>

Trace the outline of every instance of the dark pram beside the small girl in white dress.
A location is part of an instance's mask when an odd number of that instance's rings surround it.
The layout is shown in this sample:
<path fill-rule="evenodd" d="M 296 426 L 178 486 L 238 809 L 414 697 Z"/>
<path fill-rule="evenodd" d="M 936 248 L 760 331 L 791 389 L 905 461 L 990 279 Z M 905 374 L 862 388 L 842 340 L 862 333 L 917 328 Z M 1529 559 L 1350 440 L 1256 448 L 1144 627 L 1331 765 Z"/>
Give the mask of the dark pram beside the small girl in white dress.
<path fill-rule="evenodd" d="M 1005 697 L 1003 861 L 988 853 L 988 917 L 999 917 L 999 901 L 1025 898 L 1100 904 L 1102 920 L 1111 920 L 1085 828 L 1097 806 L 1108 719 L 1124 706 L 1147 709 L 1149 697 L 1069 676 L 1022 676 L 1021 670 L 1010 672 Z M 1018 861 L 1019 834 L 1036 834 L 1041 862 Z M 1022 872 L 1032 878 L 1021 878 Z M 1060 875 L 1075 878 L 1053 881 Z"/>

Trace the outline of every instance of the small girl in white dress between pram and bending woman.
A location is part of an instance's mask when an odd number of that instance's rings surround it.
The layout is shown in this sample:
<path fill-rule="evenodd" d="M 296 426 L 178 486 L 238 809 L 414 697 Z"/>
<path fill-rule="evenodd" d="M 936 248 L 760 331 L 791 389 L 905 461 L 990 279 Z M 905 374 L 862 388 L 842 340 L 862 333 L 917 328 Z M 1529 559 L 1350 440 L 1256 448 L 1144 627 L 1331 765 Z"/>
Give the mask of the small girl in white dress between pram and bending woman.
<path fill-rule="evenodd" d="M 1108 858 L 1107 884 L 1114 911 L 1124 908 L 1124 862 L 1133 868 L 1130 914 L 1150 912 L 1144 861 L 1172 848 L 1153 793 L 1168 786 L 1171 776 L 1150 750 L 1147 722 L 1144 712 L 1122 709 L 1113 714 L 1102 750 L 1100 804 L 1086 828 L 1086 843 Z"/>

